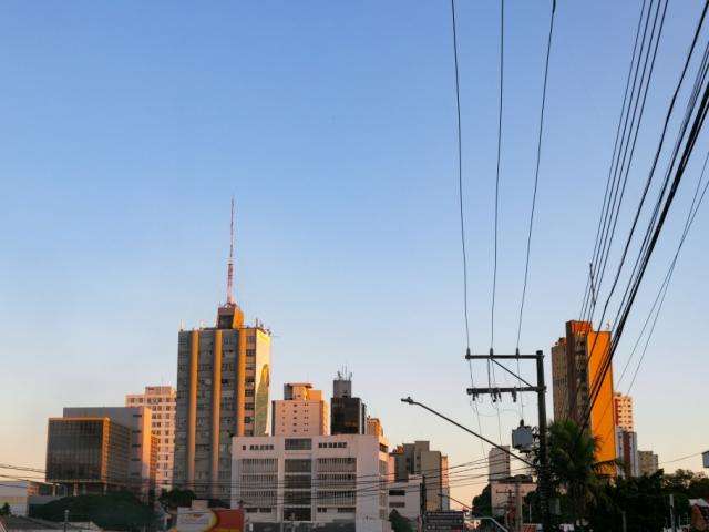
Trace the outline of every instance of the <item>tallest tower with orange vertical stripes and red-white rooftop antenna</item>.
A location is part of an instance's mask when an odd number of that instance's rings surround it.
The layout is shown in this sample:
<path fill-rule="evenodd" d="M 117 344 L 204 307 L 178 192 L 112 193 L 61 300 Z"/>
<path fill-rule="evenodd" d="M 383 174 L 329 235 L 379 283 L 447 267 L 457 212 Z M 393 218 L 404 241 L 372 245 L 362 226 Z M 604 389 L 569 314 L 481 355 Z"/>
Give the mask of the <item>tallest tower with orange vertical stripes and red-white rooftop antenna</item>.
<path fill-rule="evenodd" d="M 269 427 L 270 332 L 245 325 L 234 298 L 234 202 L 226 304 L 214 327 L 181 330 L 173 485 L 202 499 L 230 498 L 232 437 Z"/>

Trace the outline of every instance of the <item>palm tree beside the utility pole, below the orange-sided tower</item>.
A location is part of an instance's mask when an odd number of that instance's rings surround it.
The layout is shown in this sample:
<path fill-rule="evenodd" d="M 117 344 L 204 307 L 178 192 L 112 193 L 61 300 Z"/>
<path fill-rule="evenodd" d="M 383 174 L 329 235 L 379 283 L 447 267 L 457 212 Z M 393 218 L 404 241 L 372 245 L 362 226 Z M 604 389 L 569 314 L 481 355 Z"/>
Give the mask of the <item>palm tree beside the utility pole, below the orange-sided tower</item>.
<path fill-rule="evenodd" d="M 599 473 L 608 467 L 596 462 L 598 439 L 590 437 L 572 420 L 555 421 L 548 428 L 552 481 L 564 488 L 571 502 L 574 526 L 583 528 L 588 503 L 598 493 Z"/>

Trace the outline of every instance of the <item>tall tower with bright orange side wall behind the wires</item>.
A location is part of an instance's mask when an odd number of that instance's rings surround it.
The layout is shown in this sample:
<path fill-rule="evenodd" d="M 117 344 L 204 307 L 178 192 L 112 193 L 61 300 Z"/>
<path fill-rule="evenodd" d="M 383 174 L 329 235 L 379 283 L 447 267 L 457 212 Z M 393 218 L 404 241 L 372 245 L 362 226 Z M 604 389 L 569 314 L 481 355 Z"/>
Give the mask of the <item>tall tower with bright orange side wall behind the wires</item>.
<path fill-rule="evenodd" d="M 552 347 L 554 419 L 571 419 L 583 423 L 590 407 L 592 387 L 600 378 L 603 361 L 610 348 L 610 332 L 595 331 L 588 321 L 567 321 L 566 336 Z M 599 393 L 588 427 L 598 439 L 598 461 L 616 458 L 615 421 L 613 416 L 613 368 L 599 382 Z M 608 470 L 615 474 L 615 470 Z"/>

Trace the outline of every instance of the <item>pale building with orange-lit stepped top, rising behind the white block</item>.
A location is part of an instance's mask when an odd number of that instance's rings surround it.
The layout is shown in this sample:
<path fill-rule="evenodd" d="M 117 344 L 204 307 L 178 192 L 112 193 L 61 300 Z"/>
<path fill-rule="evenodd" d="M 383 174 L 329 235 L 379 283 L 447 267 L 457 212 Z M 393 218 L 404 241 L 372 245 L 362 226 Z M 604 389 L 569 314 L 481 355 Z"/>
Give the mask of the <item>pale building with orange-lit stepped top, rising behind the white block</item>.
<path fill-rule="evenodd" d="M 308 382 L 284 385 L 284 399 L 273 401 L 271 434 L 325 436 L 329 433 L 330 413 L 322 391 Z"/>

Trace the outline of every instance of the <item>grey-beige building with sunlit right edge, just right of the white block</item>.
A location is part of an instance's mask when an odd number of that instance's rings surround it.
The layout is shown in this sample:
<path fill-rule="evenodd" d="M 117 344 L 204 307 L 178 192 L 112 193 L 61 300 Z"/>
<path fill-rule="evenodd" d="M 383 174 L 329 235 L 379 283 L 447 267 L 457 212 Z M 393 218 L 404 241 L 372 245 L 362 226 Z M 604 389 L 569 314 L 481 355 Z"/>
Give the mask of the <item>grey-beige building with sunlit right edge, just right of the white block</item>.
<path fill-rule="evenodd" d="M 405 482 L 411 474 L 419 474 L 425 484 L 425 511 L 449 510 L 450 487 L 448 457 L 441 451 L 432 451 L 429 441 L 403 443 L 391 452 L 393 458 L 393 478 Z"/>

